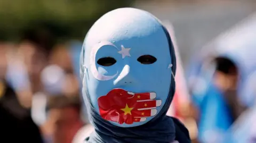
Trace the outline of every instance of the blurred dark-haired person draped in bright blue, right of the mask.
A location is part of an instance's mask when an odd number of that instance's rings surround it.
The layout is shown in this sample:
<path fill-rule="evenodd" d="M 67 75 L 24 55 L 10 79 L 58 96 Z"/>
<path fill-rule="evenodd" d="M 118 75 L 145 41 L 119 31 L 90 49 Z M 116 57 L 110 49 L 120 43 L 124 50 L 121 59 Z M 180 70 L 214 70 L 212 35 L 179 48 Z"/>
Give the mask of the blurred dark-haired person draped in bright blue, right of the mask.
<path fill-rule="evenodd" d="M 217 57 L 213 62 L 216 69 L 199 111 L 199 138 L 203 142 L 225 138 L 227 130 L 246 110 L 237 96 L 239 72 L 235 63 L 227 57 Z"/>

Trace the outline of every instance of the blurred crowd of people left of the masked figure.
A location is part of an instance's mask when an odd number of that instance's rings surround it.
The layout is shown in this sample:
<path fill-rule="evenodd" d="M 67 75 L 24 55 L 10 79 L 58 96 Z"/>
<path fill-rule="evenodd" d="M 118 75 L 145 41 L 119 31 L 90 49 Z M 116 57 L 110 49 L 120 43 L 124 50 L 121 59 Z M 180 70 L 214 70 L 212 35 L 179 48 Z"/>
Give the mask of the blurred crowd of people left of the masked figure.
<path fill-rule="evenodd" d="M 0 41 L 0 142 L 73 140 L 87 123 L 80 96 L 81 45 L 54 43 L 50 31 L 26 31 L 18 43 Z"/>

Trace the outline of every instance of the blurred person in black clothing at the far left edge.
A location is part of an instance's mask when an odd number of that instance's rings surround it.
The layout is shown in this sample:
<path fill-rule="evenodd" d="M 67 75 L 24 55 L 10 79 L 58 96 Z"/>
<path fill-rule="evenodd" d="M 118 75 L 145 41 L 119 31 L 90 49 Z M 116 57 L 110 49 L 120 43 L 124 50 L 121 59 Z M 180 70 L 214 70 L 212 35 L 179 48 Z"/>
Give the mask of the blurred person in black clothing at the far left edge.
<path fill-rule="evenodd" d="M 30 111 L 22 106 L 19 95 L 6 81 L 8 49 L 10 45 L 0 44 L 0 142 L 43 142 Z"/>

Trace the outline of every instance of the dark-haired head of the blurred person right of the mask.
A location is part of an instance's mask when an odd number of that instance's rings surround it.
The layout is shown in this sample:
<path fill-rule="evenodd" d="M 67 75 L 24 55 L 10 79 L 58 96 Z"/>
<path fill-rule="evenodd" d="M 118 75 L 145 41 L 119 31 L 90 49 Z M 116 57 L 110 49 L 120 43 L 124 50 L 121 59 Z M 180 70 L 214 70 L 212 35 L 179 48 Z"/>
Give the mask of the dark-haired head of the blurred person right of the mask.
<path fill-rule="evenodd" d="M 236 90 L 238 84 L 238 68 L 228 58 L 218 57 L 215 59 L 216 70 L 214 81 L 222 91 Z"/>

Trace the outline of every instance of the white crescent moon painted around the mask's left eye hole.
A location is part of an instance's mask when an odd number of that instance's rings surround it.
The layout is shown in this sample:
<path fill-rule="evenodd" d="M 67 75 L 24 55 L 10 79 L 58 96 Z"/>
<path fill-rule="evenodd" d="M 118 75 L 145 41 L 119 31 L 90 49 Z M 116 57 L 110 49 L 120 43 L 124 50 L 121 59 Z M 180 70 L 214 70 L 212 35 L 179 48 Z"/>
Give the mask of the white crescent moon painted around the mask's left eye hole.
<path fill-rule="evenodd" d="M 106 46 L 106 45 L 110 45 L 110 46 L 114 46 L 116 49 L 118 49 L 116 47 L 116 45 L 114 45 L 113 43 L 109 42 L 109 41 L 103 41 L 99 44 L 97 44 L 97 46 L 94 46 L 92 48 L 92 51 L 91 51 L 91 55 L 90 55 L 90 66 L 91 66 L 91 72 L 92 72 L 92 75 L 95 79 L 98 79 L 98 80 L 110 80 L 110 79 L 113 79 L 116 77 L 117 73 L 114 74 L 114 75 L 102 75 L 102 74 L 99 74 L 97 68 L 96 68 L 96 65 L 95 65 L 95 58 L 96 58 L 96 54 L 98 52 L 98 50 L 103 47 L 103 46 Z"/>

